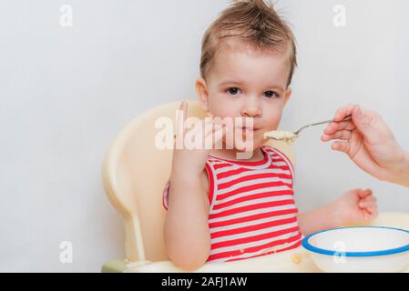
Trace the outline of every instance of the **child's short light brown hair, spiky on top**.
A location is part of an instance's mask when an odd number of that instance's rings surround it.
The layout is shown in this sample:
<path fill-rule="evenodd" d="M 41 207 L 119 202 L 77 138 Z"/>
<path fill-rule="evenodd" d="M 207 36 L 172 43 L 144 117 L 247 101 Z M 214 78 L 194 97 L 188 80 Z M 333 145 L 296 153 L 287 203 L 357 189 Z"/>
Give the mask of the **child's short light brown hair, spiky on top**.
<path fill-rule="evenodd" d="M 233 0 L 203 35 L 200 75 L 206 79 L 213 60 L 226 41 L 237 39 L 256 50 L 289 49 L 291 65 L 287 85 L 297 66 L 295 38 L 290 27 L 275 12 L 271 3 L 263 0 Z"/>

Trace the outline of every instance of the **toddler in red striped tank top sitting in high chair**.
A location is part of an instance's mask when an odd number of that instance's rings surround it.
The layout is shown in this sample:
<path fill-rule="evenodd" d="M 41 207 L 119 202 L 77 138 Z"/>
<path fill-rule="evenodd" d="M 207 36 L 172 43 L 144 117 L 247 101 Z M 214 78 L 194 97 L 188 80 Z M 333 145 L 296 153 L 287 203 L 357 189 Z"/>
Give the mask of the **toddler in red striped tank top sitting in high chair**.
<path fill-rule="evenodd" d="M 312 232 L 377 216 L 372 191 L 361 189 L 298 212 L 291 161 L 265 146 L 263 136 L 280 124 L 296 65 L 291 29 L 262 0 L 233 2 L 206 31 L 196 91 L 214 126 L 203 121 L 205 134 L 198 136 L 217 137 L 211 148 L 175 148 L 173 153 L 163 204 L 167 251 L 177 266 L 193 270 L 205 262 L 278 253 L 300 246 L 302 236 Z M 186 118 L 186 102 L 180 110 Z M 232 128 L 220 123 L 226 118 Z M 182 130 L 177 139 L 193 130 Z M 227 138 L 231 130 L 239 133 L 232 141 Z M 246 145 L 251 142 L 247 159 L 237 158 L 248 151 L 237 136 Z"/>

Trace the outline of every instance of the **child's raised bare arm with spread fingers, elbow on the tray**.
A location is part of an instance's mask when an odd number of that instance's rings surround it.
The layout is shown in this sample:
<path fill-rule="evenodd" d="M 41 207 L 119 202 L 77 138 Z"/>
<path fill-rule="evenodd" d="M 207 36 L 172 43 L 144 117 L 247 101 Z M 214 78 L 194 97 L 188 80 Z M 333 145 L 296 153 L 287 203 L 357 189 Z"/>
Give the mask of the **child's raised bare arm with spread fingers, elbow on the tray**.
<path fill-rule="evenodd" d="M 179 115 L 177 122 L 178 125 L 184 125 L 188 115 L 188 104 L 183 102 L 180 110 L 182 115 Z M 210 120 L 208 123 L 213 124 L 213 121 Z M 225 130 L 201 123 L 188 132 L 185 132 L 184 126 L 177 131 L 164 235 L 169 258 L 177 266 L 193 270 L 202 266 L 210 255 L 208 181 L 204 170 L 210 148 L 190 149 L 187 145 L 179 148 L 179 141 L 184 144 L 185 135 L 189 134 L 190 137 L 201 136 L 202 145 L 205 145 L 205 136 L 211 134 L 216 135 L 212 141 L 217 143 L 225 134 Z M 221 131 L 223 135 L 220 135 Z"/>

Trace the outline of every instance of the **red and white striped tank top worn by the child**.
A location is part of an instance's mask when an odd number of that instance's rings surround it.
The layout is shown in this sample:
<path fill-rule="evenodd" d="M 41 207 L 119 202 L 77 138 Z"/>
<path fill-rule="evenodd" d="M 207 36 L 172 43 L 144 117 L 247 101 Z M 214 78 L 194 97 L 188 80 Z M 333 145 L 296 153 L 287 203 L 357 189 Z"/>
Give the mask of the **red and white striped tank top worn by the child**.
<path fill-rule="evenodd" d="M 210 256 L 228 262 L 301 246 L 293 199 L 293 168 L 278 149 L 261 146 L 258 162 L 209 155 Z M 169 182 L 163 191 L 168 208 Z"/>

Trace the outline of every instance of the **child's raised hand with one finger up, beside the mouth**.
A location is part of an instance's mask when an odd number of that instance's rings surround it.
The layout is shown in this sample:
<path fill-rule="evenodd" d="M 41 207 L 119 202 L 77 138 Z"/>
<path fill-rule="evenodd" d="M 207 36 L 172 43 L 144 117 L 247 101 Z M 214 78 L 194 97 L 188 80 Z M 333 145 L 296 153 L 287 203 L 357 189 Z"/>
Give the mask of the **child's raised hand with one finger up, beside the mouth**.
<path fill-rule="evenodd" d="M 182 102 L 179 110 L 183 115 L 178 116 L 177 123 L 179 128 L 182 128 L 180 125 L 186 124 L 188 103 Z M 179 130 L 173 152 L 172 174 L 199 175 L 205 167 L 211 148 L 214 148 L 225 134 L 225 127 L 214 118 L 201 121 L 199 125 L 193 125 L 190 129 Z M 206 144 L 206 140 L 210 140 L 210 135 L 213 135 L 212 142 Z M 201 143 L 198 142 L 198 139 Z M 186 145 L 187 142 L 191 142 L 192 145 Z"/>

